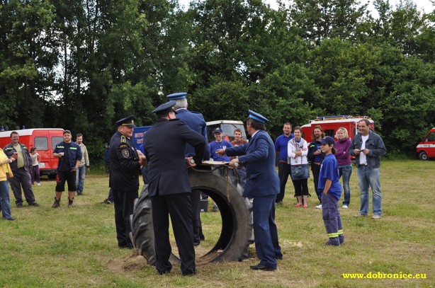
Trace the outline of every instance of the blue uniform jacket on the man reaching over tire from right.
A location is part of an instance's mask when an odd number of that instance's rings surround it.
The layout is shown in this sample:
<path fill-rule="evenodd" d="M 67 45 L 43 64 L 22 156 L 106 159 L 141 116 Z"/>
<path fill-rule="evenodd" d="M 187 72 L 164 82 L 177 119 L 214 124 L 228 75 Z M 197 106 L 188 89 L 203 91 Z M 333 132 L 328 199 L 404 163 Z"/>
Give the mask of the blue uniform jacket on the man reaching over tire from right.
<path fill-rule="evenodd" d="M 275 171 L 275 146 L 266 131 L 259 130 L 247 144 L 227 148 L 228 156 L 239 156 L 246 166 L 247 184 L 243 197 L 261 197 L 279 193 L 279 178 Z"/>

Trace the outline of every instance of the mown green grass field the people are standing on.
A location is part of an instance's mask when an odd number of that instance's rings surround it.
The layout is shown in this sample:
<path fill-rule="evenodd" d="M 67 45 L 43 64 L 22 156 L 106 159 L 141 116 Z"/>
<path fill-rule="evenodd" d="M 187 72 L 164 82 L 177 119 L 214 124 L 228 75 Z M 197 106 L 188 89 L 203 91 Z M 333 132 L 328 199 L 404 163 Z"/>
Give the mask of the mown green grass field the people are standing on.
<path fill-rule="evenodd" d="M 179 267 L 160 276 L 132 250 L 118 248 L 113 205 L 101 204 L 108 193 L 107 175 L 86 175 L 85 195 L 76 197 L 72 209 L 66 194 L 59 209 L 50 207 L 55 181 L 44 179 L 34 189 L 40 207 L 18 209 L 11 193 L 17 220 L 0 220 L 0 287 L 435 287 L 434 175 L 435 161 L 383 161 L 383 218 L 373 220 L 354 217 L 359 208 L 354 168 L 351 205 L 340 209 L 346 243 L 339 248 L 322 245 L 327 236 L 315 197 L 308 209 L 293 207 L 289 180 L 284 205 L 276 212 L 284 254 L 278 270 L 250 270 L 258 263 L 252 246 L 246 262 L 200 265 L 194 277 L 182 277 Z M 310 192 L 312 186 L 310 181 Z M 213 245 L 219 215 L 202 214 L 206 239 L 199 247 Z M 378 272 L 386 277 L 424 273 L 426 279 L 342 275 Z"/>

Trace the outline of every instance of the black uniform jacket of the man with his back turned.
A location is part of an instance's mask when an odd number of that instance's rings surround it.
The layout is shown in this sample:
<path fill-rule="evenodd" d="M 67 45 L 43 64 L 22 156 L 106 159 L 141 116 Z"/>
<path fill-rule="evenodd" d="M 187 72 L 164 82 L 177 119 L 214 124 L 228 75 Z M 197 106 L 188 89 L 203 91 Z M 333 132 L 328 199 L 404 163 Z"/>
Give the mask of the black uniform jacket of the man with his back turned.
<path fill-rule="evenodd" d="M 193 146 L 193 160 L 200 163 L 205 151 L 205 139 L 183 121 L 158 120 L 147 131 L 144 150 L 148 161 L 149 196 L 191 192 L 184 159 L 186 143 Z"/>

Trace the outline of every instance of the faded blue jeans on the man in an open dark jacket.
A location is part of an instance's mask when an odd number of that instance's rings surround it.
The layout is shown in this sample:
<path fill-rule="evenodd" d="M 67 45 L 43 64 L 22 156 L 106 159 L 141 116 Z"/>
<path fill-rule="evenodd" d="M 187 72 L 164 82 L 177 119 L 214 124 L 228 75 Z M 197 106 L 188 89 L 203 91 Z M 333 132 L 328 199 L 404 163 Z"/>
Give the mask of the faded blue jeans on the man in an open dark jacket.
<path fill-rule="evenodd" d="M 361 209 L 362 215 L 368 215 L 368 188 L 371 187 L 373 192 L 373 215 L 382 214 L 382 195 L 380 192 L 380 168 L 369 168 L 366 165 L 358 166 L 358 185 L 361 193 Z"/>

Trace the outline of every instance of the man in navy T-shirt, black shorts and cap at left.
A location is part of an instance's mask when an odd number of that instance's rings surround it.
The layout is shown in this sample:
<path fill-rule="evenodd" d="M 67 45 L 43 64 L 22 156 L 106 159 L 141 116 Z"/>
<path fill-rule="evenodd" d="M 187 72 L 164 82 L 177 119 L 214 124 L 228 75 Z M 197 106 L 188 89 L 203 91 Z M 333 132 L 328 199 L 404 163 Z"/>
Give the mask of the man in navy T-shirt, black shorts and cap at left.
<path fill-rule="evenodd" d="M 52 208 L 60 206 L 60 198 L 68 183 L 68 208 L 72 207 L 76 193 L 76 172 L 81 161 L 80 146 L 72 142 L 71 131 L 64 131 L 64 141 L 56 145 L 53 157 L 57 157 L 56 196 Z"/>

